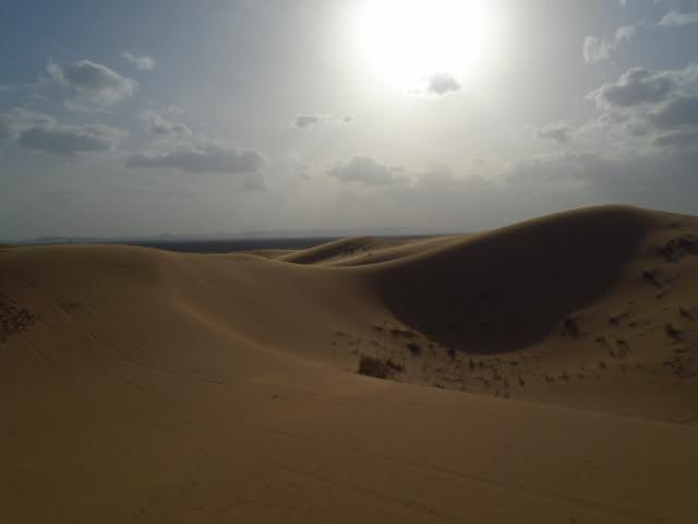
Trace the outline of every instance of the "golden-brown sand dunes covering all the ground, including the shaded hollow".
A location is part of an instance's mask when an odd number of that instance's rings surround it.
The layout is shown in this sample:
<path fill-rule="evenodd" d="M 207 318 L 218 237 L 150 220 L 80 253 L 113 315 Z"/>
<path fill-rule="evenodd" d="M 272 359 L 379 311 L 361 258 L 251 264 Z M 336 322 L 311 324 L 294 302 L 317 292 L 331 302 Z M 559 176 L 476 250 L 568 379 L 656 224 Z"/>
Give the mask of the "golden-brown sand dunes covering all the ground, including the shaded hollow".
<path fill-rule="evenodd" d="M 3 249 L 0 522 L 693 523 L 697 231 Z"/>

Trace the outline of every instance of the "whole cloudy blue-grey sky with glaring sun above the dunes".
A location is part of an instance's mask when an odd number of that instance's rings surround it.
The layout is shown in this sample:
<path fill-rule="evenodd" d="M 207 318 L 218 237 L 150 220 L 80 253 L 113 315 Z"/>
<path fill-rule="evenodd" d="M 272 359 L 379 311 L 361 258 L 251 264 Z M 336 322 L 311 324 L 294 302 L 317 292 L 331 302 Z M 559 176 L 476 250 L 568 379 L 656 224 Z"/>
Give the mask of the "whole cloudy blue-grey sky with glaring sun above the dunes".
<path fill-rule="evenodd" d="M 0 239 L 698 214 L 698 0 L 0 0 Z"/>

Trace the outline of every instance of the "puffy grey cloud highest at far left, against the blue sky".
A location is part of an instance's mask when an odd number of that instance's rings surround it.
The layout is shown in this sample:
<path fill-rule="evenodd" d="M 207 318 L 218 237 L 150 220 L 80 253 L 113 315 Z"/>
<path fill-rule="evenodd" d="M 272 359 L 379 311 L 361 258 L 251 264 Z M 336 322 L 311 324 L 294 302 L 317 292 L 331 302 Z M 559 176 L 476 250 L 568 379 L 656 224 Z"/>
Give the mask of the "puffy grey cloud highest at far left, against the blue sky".
<path fill-rule="evenodd" d="M 65 105 L 75 111 L 108 108 L 133 95 L 137 87 L 135 81 L 89 60 L 68 66 L 49 60 L 47 68 L 53 81 L 74 93 Z"/>

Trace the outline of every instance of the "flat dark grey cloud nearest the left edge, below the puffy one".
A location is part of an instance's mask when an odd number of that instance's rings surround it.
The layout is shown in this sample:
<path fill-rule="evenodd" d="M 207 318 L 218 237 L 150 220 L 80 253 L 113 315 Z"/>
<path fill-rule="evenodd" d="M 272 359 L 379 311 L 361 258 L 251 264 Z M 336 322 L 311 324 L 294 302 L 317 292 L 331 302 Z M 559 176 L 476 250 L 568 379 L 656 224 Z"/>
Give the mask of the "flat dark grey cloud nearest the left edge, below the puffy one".
<path fill-rule="evenodd" d="M 125 136 L 123 131 L 100 123 L 56 124 L 29 128 L 20 134 L 17 143 L 25 150 L 71 157 L 112 150 Z"/>

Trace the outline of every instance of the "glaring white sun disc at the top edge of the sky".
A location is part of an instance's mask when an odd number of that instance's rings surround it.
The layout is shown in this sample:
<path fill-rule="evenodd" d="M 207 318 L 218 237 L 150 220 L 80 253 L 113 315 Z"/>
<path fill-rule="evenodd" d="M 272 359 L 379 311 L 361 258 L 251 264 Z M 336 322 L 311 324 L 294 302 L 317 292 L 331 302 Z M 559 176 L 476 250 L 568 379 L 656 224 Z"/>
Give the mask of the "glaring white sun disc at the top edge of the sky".
<path fill-rule="evenodd" d="M 434 74 L 461 79 L 482 59 L 483 0 L 368 0 L 360 39 L 388 82 L 412 88 Z"/>

